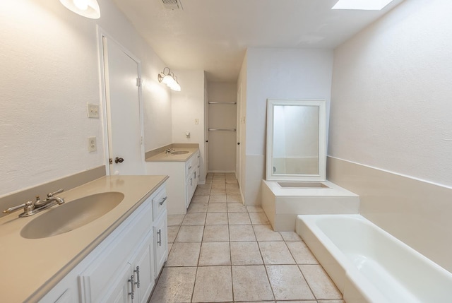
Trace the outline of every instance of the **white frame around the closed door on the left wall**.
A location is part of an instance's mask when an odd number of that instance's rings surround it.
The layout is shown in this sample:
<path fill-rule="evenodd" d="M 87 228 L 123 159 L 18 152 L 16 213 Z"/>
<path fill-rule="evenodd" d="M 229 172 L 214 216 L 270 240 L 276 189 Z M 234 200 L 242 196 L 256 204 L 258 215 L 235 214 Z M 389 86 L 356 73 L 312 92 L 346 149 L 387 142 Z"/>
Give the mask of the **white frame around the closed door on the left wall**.
<path fill-rule="evenodd" d="M 119 43 L 112 35 L 109 35 L 107 31 L 105 31 L 103 28 L 101 28 L 99 25 L 96 26 L 97 28 L 97 51 L 99 54 L 99 74 L 100 74 L 100 100 L 101 104 L 100 107 L 102 107 L 102 133 L 103 133 L 103 145 L 104 145 L 104 155 L 105 155 L 105 174 L 108 176 L 110 174 L 110 165 L 109 165 L 109 158 L 110 158 L 110 151 L 109 151 L 109 142 L 110 142 L 110 134 L 109 134 L 109 125 L 108 125 L 108 119 L 107 119 L 107 106 L 109 100 L 107 100 L 107 93 L 106 89 L 107 86 L 105 85 L 105 49 L 103 40 L 104 38 L 107 39 L 107 41 L 112 41 L 116 44 L 118 44 L 119 48 L 127 55 L 129 56 L 133 61 L 136 62 L 138 66 L 137 70 L 137 77 L 141 79 L 141 60 L 138 59 L 135 55 L 133 55 L 129 49 L 126 49 L 121 43 Z M 140 80 L 140 82 L 142 82 Z M 140 137 L 141 137 L 141 162 L 143 162 L 144 166 L 144 113 L 143 113 L 143 97 L 142 97 L 142 83 L 138 85 L 138 107 L 140 110 L 139 116 L 140 116 Z M 145 171 L 145 168 L 143 167 L 143 172 Z"/>

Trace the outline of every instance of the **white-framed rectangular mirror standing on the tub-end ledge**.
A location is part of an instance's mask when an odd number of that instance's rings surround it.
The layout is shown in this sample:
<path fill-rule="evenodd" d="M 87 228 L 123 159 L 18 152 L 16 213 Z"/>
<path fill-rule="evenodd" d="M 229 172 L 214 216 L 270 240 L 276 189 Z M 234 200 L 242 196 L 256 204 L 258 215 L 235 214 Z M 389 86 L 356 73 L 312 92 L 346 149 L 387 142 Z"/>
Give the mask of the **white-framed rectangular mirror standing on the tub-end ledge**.
<path fill-rule="evenodd" d="M 325 181 L 325 100 L 267 100 L 268 181 Z"/>

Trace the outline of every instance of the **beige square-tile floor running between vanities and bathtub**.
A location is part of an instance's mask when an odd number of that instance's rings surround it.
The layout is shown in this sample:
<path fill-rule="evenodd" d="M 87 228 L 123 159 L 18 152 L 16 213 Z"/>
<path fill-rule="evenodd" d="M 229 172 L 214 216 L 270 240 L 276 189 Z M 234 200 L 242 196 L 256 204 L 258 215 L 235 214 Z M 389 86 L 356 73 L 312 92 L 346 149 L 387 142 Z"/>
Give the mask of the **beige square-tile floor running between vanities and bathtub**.
<path fill-rule="evenodd" d="M 295 232 L 244 206 L 234 174 L 208 174 L 186 215 L 168 216 L 169 256 L 150 299 L 345 303 Z"/>

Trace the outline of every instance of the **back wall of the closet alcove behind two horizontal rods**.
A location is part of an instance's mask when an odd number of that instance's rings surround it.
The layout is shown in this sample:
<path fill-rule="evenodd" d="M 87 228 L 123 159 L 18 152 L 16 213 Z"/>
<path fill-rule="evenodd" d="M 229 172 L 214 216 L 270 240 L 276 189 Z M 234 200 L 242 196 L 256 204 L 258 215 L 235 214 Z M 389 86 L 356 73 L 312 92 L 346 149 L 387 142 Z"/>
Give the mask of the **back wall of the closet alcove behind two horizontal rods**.
<path fill-rule="evenodd" d="M 208 83 L 209 101 L 237 102 L 237 83 Z M 237 105 L 208 105 L 209 129 L 237 129 Z M 210 172 L 235 172 L 237 132 L 209 131 Z"/>

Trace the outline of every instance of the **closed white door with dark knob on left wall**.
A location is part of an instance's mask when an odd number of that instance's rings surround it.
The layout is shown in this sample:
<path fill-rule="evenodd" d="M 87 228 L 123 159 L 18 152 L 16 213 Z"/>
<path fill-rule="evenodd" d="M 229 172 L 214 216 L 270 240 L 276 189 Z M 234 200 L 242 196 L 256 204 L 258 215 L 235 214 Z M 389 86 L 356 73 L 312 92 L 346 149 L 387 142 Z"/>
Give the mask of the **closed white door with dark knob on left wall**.
<path fill-rule="evenodd" d="M 109 172 L 143 174 L 144 146 L 138 59 L 102 37 Z"/>

